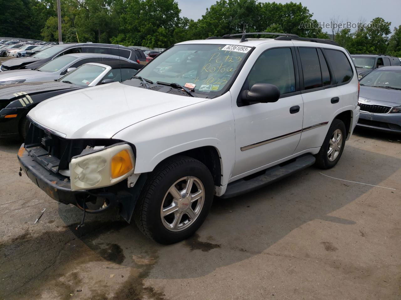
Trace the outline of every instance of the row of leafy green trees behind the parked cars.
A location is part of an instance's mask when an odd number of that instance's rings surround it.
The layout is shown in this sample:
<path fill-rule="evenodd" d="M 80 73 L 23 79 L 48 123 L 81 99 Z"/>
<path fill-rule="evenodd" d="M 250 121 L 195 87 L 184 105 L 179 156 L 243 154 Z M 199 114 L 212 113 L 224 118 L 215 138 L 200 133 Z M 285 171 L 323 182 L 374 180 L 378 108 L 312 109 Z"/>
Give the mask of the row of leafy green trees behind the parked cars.
<path fill-rule="evenodd" d="M 2 4 L 2 5 L 1 5 Z M 58 40 L 55 0 L 0 0 L 0 36 Z M 118 43 L 166 48 L 241 32 L 286 32 L 310 38 L 332 38 L 350 53 L 401 56 L 401 25 L 391 34 L 391 22 L 375 18 L 379 28 L 342 29 L 333 34 L 317 24 L 306 6 L 289 2 L 219 0 L 192 20 L 180 16 L 174 0 L 61 0 L 63 42 Z"/>

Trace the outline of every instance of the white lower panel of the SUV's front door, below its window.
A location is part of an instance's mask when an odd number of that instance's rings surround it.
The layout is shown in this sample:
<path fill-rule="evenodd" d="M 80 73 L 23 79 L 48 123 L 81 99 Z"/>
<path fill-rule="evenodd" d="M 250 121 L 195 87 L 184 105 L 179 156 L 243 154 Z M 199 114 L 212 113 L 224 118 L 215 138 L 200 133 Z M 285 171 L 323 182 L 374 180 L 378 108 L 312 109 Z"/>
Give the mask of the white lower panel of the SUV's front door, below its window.
<path fill-rule="evenodd" d="M 290 107 L 300 111 L 290 114 Z M 235 167 L 233 176 L 290 156 L 301 136 L 301 95 L 274 103 L 234 107 Z"/>

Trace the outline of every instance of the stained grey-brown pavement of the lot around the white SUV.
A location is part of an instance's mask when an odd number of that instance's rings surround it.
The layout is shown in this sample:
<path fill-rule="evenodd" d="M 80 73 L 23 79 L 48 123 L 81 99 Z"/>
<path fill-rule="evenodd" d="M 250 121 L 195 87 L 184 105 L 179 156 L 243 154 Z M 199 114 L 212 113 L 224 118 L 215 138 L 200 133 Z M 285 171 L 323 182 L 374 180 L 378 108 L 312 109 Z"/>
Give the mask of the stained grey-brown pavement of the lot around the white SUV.
<path fill-rule="evenodd" d="M 19 177 L 19 142 L 0 140 L 0 299 L 400 299 L 397 139 L 356 130 L 335 168 L 215 199 L 171 246 L 115 211 L 75 230 L 82 212 Z"/>

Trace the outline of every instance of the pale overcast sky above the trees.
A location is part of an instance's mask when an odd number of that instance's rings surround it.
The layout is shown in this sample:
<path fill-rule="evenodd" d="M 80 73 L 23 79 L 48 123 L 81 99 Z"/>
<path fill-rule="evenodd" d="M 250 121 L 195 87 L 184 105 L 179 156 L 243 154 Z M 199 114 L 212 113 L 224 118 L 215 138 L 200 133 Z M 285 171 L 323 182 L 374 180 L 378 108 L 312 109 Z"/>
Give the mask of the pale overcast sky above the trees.
<path fill-rule="evenodd" d="M 206 12 L 206 8 L 216 3 L 216 0 L 176 0 L 181 9 L 181 16 L 197 20 Z M 267 2 L 267 1 L 259 1 Z M 273 2 L 273 1 L 269 1 Z M 276 1 L 286 3 L 290 1 Z M 340 16 L 344 22 L 358 22 L 362 17 L 369 23 L 373 18 L 381 17 L 387 22 L 391 22 L 391 32 L 394 27 L 401 24 L 401 0 L 336 0 L 331 4 L 322 0 L 294 0 L 293 2 L 301 2 L 313 14 L 314 19 L 318 22 L 330 22 L 330 18 Z M 329 5 L 328 5 L 329 4 Z M 231 32 L 227 32 L 231 33 Z"/>

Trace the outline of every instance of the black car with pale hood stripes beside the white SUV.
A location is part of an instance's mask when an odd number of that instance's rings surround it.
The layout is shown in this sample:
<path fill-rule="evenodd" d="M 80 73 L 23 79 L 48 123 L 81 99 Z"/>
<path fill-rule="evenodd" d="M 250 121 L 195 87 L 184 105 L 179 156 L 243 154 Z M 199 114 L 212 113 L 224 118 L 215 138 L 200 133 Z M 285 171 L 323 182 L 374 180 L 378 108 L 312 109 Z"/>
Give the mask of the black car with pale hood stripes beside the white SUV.
<path fill-rule="evenodd" d="M 74 90 L 122 82 L 130 79 L 143 65 L 125 60 L 88 63 L 54 81 L 0 86 L 0 137 L 25 138 L 28 112 L 38 103 Z"/>

